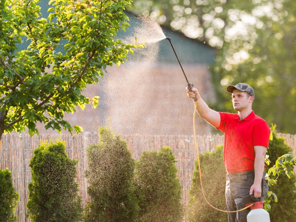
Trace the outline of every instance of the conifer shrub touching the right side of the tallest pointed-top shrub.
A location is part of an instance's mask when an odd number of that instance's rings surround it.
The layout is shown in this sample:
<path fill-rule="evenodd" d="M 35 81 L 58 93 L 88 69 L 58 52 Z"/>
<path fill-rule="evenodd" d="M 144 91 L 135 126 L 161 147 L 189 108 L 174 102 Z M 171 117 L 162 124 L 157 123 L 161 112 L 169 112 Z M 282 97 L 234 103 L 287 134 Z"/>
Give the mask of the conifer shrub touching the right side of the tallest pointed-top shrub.
<path fill-rule="evenodd" d="M 169 147 L 144 151 L 136 164 L 139 222 L 182 221 L 181 185 L 175 157 Z"/>

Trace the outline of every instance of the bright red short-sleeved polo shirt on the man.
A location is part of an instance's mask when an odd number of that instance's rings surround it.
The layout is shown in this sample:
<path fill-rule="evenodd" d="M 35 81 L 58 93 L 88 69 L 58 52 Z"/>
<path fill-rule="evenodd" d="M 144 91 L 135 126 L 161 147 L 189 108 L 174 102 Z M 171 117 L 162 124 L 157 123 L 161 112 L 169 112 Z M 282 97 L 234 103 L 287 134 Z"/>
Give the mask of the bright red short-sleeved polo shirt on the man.
<path fill-rule="evenodd" d="M 268 147 L 270 129 L 268 124 L 255 115 L 254 111 L 239 120 L 234 113 L 219 112 L 220 126 L 225 134 L 224 164 L 228 173 L 238 173 L 254 169 L 254 146 Z"/>

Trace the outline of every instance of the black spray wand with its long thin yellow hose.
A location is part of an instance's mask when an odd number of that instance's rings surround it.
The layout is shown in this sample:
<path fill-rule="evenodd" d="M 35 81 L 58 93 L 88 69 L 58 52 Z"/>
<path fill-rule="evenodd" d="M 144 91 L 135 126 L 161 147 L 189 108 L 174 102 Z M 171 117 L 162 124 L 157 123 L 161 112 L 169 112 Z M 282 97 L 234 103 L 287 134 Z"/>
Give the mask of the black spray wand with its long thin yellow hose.
<path fill-rule="evenodd" d="M 175 55 L 176 55 L 176 58 L 177 58 L 177 60 L 178 60 L 178 62 L 179 62 L 179 65 L 180 65 L 180 67 L 181 67 L 181 69 L 182 69 L 182 72 L 183 72 L 183 74 L 184 74 L 184 76 L 185 76 L 185 79 L 186 79 L 186 81 L 187 81 L 188 89 L 191 91 L 191 90 L 192 90 L 192 87 L 194 86 L 194 84 L 193 84 L 193 83 L 189 83 L 189 81 L 188 81 L 188 79 L 187 79 L 187 77 L 186 77 L 186 75 L 185 75 L 185 72 L 184 72 L 184 70 L 183 70 L 183 67 L 182 67 L 182 65 L 181 65 L 181 62 L 180 62 L 180 60 L 179 60 L 179 58 L 178 58 L 178 56 L 177 56 L 177 53 L 176 53 L 176 51 L 175 51 L 175 49 L 174 49 L 174 46 L 173 46 L 173 44 L 172 44 L 172 41 L 170 41 L 170 38 L 169 38 L 169 37 L 166 37 L 166 39 L 170 42 L 170 45 L 171 45 L 172 48 L 173 48 L 173 51 L 174 51 L 174 53 L 175 53 Z M 249 208 L 249 207 L 251 207 L 251 206 L 254 206 L 255 204 L 251 204 L 251 205 L 249 205 L 249 206 L 247 206 L 247 207 L 244 207 L 244 208 L 242 208 L 242 209 L 240 209 L 240 210 L 226 211 L 226 210 L 220 210 L 220 209 L 214 207 L 213 205 L 211 205 L 211 204 L 207 201 L 207 198 L 205 197 L 205 194 L 204 194 L 204 191 L 203 191 L 203 188 L 202 188 L 202 176 L 201 176 L 202 174 L 201 174 L 201 170 L 200 170 L 200 157 L 199 157 L 199 153 L 198 153 L 198 147 L 197 147 L 197 141 L 196 141 L 196 134 L 195 134 L 195 112 L 196 112 L 196 108 L 197 108 L 197 98 L 196 98 L 196 96 L 193 98 L 193 100 L 194 100 L 194 104 L 195 104 L 195 107 L 194 107 L 194 114 L 193 114 L 193 132 L 194 132 L 194 141 L 195 141 L 195 148 L 196 148 L 196 153 L 197 153 L 198 169 L 199 169 L 199 172 L 200 172 L 200 173 L 199 173 L 199 175 L 200 175 L 200 187 L 201 187 L 201 189 L 202 189 L 202 195 L 203 195 L 203 197 L 205 198 L 205 201 L 207 202 L 208 205 L 210 205 L 211 207 L 213 207 L 215 210 L 218 210 L 218 211 L 221 211 L 221 212 L 224 212 L 224 213 L 236 213 L 236 212 L 239 212 L 239 211 L 245 210 L 245 209 L 247 209 L 247 208 Z"/>

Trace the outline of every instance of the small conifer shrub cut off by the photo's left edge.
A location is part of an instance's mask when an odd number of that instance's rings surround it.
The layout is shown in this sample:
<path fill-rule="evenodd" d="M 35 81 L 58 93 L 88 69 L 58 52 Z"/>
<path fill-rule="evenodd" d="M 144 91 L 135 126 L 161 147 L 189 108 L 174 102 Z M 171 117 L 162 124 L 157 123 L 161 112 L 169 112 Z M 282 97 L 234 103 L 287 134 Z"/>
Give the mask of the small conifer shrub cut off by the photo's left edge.
<path fill-rule="evenodd" d="M 0 222 L 14 222 L 19 195 L 12 184 L 11 172 L 0 169 Z"/>

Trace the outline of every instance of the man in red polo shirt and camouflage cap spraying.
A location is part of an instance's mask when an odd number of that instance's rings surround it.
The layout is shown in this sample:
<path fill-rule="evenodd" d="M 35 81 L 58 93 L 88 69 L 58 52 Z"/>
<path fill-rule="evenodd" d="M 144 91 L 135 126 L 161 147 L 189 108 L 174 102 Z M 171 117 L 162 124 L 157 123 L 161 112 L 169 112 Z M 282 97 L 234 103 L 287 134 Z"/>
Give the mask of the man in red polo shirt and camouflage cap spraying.
<path fill-rule="evenodd" d="M 254 90 L 245 83 L 228 86 L 237 114 L 216 112 L 202 100 L 197 89 L 186 88 L 190 98 L 197 98 L 197 112 L 215 128 L 225 134 L 224 164 L 226 175 L 226 210 L 236 211 L 245 204 L 263 201 L 268 191 L 264 176 L 264 158 L 268 147 L 270 129 L 268 124 L 252 111 Z M 229 222 L 246 222 L 250 208 L 237 213 L 227 213 Z"/>

